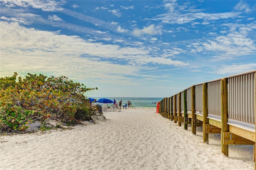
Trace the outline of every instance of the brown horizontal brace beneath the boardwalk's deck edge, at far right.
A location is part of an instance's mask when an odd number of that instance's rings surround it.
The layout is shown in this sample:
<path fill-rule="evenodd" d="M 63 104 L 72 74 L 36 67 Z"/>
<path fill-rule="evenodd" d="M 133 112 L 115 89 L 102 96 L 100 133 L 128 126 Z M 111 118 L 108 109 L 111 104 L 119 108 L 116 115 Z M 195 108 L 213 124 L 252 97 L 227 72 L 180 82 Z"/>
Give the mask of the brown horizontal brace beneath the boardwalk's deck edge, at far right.
<path fill-rule="evenodd" d="M 223 132 L 223 143 L 228 144 L 243 144 L 243 145 L 254 145 L 255 142 L 248 140 L 231 132 Z"/>

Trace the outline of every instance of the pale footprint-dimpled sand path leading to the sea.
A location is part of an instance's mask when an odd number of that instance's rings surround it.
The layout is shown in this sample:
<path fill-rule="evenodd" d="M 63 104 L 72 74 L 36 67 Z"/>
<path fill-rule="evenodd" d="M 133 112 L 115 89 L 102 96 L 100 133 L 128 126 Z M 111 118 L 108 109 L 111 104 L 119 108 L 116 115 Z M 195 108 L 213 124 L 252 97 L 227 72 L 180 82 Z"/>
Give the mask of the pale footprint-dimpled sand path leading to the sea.
<path fill-rule="evenodd" d="M 106 121 L 46 134 L 0 137 L 1 170 L 252 170 L 253 146 L 209 145 L 153 109 L 104 113 Z M 183 126 L 183 125 L 182 125 Z"/>

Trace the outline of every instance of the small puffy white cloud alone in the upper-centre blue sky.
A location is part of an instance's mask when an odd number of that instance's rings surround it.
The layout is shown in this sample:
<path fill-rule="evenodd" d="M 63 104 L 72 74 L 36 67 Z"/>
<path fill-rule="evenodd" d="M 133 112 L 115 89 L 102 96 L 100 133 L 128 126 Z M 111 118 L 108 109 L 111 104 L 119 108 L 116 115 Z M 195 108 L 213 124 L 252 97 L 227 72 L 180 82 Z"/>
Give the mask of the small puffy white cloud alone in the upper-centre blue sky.
<path fill-rule="evenodd" d="M 148 27 L 144 27 L 141 30 L 138 28 L 135 28 L 133 30 L 134 36 L 142 36 L 143 34 L 149 34 L 149 35 L 162 35 L 162 30 L 160 27 L 156 27 L 154 24 L 151 24 Z"/>

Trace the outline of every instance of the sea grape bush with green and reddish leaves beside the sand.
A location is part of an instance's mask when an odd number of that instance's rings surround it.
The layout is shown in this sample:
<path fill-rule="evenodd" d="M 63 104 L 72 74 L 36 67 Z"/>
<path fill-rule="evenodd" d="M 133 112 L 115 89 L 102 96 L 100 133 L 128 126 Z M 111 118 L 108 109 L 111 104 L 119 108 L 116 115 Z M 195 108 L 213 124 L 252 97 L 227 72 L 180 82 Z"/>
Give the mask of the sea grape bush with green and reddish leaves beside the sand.
<path fill-rule="evenodd" d="M 84 84 L 73 82 L 68 77 L 30 74 L 22 79 L 17 73 L 0 78 L 0 131 L 26 130 L 28 123 L 47 119 L 61 120 L 74 125 L 76 112 L 92 112 Z M 86 109 L 85 109 L 86 108 Z M 82 110 L 82 111 L 81 111 Z"/>

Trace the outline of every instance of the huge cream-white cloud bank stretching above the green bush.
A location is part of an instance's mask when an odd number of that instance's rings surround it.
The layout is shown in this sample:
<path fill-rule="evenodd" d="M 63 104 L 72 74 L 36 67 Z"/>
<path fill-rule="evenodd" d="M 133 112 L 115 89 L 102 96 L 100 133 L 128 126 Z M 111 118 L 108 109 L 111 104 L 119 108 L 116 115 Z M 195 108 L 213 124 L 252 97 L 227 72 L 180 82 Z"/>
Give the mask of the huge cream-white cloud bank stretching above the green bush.
<path fill-rule="evenodd" d="M 16 22 L 1 22 L 0 27 L 3 75 L 10 75 L 14 71 L 22 73 L 42 71 L 51 75 L 71 75 L 69 77 L 76 79 L 102 77 L 106 81 L 113 79 L 108 74 L 111 73 L 112 68 L 120 73 L 116 78 L 123 80 L 124 75 L 137 75 L 141 69 L 144 69 L 142 65 L 149 63 L 176 67 L 186 65 L 182 61 L 168 58 L 162 61 L 162 57 L 152 57 L 146 49 L 104 45 L 90 40 L 85 41 L 78 36 L 58 35 L 34 28 L 24 28 Z M 116 61 L 127 61 L 130 64 L 124 62 L 118 64 Z"/>

